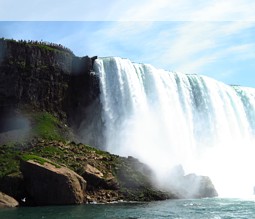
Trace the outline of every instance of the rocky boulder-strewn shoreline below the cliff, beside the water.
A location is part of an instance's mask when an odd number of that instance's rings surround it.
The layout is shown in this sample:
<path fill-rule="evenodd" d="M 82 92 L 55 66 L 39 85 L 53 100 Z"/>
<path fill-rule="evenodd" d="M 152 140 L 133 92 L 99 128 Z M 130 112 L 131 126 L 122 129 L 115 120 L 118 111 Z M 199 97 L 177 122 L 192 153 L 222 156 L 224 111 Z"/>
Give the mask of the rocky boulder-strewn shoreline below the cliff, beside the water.
<path fill-rule="evenodd" d="M 21 206 L 180 198 L 177 193 L 156 188 L 151 169 L 133 157 L 45 139 L 20 148 L 0 146 L 0 159 L 6 158 L 7 166 L 12 167 L 1 176 L 0 191 L 14 197 Z M 186 186 L 192 189 L 192 184 Z M 210 180 L 202 187 L 201 197 L 217 195 Z"/>

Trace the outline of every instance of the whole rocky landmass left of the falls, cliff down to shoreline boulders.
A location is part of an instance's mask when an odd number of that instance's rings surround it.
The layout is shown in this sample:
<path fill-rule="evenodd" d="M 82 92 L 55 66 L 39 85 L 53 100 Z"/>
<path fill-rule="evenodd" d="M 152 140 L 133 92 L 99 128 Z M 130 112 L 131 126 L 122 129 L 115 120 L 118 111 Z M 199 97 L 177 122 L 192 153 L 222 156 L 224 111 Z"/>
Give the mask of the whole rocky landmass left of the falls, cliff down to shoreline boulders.
<path fill-rule="evenodd" d="M 157 188 L 136 158 L 89 146 L 79 133 L 100 94 L 95 58 L 0 39 L 0 207 L 185 198 Z M 208 177 L 180 169 L 186 190 L 200 180 L 196 198 L 217 196 Z"/>

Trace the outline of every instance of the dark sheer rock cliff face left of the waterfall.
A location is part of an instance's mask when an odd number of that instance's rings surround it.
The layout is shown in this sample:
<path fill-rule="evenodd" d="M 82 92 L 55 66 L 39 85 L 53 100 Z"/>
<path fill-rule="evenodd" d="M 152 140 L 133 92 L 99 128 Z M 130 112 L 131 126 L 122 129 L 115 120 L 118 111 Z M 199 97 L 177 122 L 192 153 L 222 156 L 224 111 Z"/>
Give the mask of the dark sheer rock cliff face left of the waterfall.
<path fill-rule="evenodd" d="M 99 94 L 92 60 L 0 39 L 0 132 L 22 107 L 51 112 L 78 127 L 84 108 Z"/>

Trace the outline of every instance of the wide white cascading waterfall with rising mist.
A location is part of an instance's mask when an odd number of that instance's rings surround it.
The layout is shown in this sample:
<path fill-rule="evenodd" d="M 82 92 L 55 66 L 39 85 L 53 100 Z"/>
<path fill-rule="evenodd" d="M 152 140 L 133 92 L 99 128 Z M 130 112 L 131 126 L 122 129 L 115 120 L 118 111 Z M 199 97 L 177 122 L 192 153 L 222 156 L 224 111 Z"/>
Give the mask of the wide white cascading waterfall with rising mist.
<path fill-rule="evenodd" d="M 255 89 L 100 58 L 106 149 L 150 165 L 160 182 L 175 165 L 209 176 L 218 193 L 241 196 L 255 185 Z"/>

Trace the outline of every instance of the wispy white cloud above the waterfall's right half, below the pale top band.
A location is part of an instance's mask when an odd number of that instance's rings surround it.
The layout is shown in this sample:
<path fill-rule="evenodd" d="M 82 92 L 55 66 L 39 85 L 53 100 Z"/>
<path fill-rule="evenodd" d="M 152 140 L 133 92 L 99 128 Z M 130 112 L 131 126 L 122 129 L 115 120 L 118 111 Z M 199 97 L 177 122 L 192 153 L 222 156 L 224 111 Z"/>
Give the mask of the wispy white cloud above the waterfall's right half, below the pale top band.
<path fill-rule="evenodd" d="M 200 72 L 211 62 L 233 56 L 234 53 L 236 59 L 253 57 L 252 44 L 235 42 L 238 36 L 242 37 L 242 34 L 253 26 L 255 26 L 253 22 L 184 23 L 175 29 L 175 39 L 161 52 L 162 60 L 168 62 L 161 64 L 164 66 L 171 64 L 181 71 L 189 69 L 191 73 Z"/>

